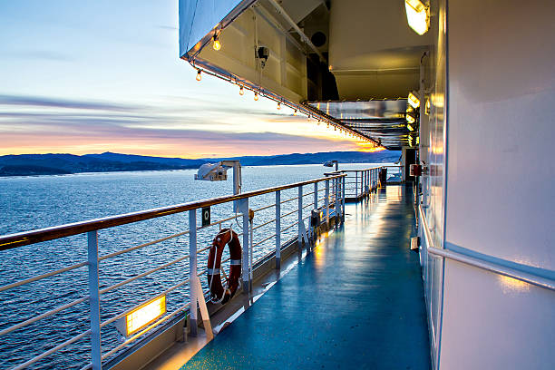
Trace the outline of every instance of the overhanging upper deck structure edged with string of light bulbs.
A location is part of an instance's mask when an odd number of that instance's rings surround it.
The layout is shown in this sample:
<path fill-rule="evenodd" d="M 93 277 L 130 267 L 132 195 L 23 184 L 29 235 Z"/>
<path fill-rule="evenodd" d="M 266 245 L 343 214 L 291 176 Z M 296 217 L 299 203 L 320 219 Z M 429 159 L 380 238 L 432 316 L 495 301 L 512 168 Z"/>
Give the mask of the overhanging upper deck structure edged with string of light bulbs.
<path fill-rule="evenodd" d="M 399 150 L 415 143 L 409 134 L 417 130 L 409 131 L 404 119 L 406 97 L 420 88 L 421 58 L 431 41 L 409 28 L 403 2 L 386 3 L 181 0 L 180 57 L 356 140 Z M 337 114 L 319 109 L 323 104 L 336 106 Z M 393 104 L 396 116 L 344 118 L 384 104 Z"/>

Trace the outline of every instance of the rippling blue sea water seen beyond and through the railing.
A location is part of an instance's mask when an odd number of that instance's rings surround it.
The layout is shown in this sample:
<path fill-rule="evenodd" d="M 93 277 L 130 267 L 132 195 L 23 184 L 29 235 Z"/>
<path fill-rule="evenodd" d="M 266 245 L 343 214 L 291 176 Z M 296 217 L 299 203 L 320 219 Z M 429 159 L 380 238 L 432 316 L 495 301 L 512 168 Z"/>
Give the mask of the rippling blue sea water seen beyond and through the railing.
<path fill-rule="evenodd" d="M 342 170 L 374 167 L 373 164 L 346 164 Z M 329 169 L 321 165 L 244 167 L 243 191 L 258 190 L 287 183 L 323 177 Z M 0 178 L 0 235 L 40 229 L 86 219 L 96 219 L 131 211 L 153 209 L 202 200 L 232 193 L 231 170 L 228 181 L 193 180 L 196 170 L 137 171 L 112 173 L 83 173 L 63 176 L 37 176 Z M 319 189 L 322 189 L 323 184 Z M 314 186 L 305 187 L 312 192 Z M 322 198 L 322 192 L 319 198 Z M 297 189 L 285 190 L 281 199 L 297 197 Z M 249 200 L 249 208 L 258 209 L 273 204 L 273 193 Z M 307 205 L 313 195 L 304 198 Z M 320 205 L 323 201 L 320 202 Z M 310 209 L 304 210 L 308 216 Z M 282 214 L 297 209 L 297 200 L 282 205 Z M 211 209 L 212 222 L 232 216 L 231 203 Z M 275 209 L 259 211 L 254 225 L 275 217 Z M 297 221 L 297 213 L 282 219 L 282 229 Z M 200 225 L 200 212 L 198 225 Z M 228 221 L 223 227 L 232 227 L 241 232 L 240 224 Z M 275 225 L 268 224 L 255 230 L 254 242 L 265 239 L 275 232 Z M 141 245 L 189 229 L 187 213 L 150 219 L 99 231 L 100 256 L 123 248 Z M 201 229 L 198 233 L 198 248 L 210 245 L 219 227 Z M 294 238 L 297 227 L 282 234 L 282 242 Z M 274 247 L 269 239 L 254 248 L 254 258 L 262 258 Z M 87 242 L 85 235 L 52 240 L 22 248 L 0 252 L 0 286 L 24 278 L 44 274 L 86 260 Z M 151 268 L 189 254 L 187 235 L 169 239 L 148 247 L 139 248 L 100 263 L 100 286 L 110 287 L 129 277 L 134 277 Z M 205 268 L 207 252 L 199 255 L 199 271 Z M 169 268 L 141 277 L 130 284 L 118 287 L 101 297 L 102 321 L 141 303 L 145 299 L 172 287 L 189 275 L 188 259 Z M 201 281 L 206 286 L 205 276 Z M 0 292 L 0 330 L 13 326 L 30 317 L 72 302 L 88 295 L 87 269 L 77 268 L 55 277 L 48 277 L 22 287 Z M 168 312 L 189 300 L 187 286 L 172 291 L 167 297 Z M 0 336 L 0 369 L 19 365 L 35 355 L 63 343 L 89 328 L 89 307 L 85 301 L 25 326 L 5 336 Z M 102 353 L 121 343 L 115 326 L 102 328 Z M 63 350 L 39 361 L 31 368 L 69 369 L 81 368 L 90 361 L 88 336 L 65 347 Z"/>

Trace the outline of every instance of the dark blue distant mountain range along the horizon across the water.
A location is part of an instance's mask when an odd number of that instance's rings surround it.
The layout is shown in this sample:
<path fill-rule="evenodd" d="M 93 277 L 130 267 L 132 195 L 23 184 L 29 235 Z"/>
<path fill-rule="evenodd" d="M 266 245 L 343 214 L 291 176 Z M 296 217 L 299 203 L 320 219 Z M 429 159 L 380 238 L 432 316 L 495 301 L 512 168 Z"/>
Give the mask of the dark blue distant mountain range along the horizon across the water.
<path fill-rule="evenodd" d="M 189 160 L 184 158 L 148 157 L 112 153 L 102 154 L 20 154 L 0 156 L 0 176 L 56 175 L 81 172 L 111 172 L 126 170 L 184 170 L 197 169 L 207 162 L 239 160 L 242 166 L 271 166 L 318 164 L 325 161 L 340 163 L 384 163 L 397 161 L 399 151 L 327 151 L 305 154 L 246 156 Z"/>

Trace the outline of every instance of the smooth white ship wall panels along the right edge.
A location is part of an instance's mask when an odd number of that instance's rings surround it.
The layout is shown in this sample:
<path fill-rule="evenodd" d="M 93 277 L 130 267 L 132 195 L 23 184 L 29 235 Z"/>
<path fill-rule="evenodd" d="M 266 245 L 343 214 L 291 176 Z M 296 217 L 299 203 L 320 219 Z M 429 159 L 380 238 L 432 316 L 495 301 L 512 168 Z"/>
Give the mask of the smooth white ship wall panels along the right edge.
<path fill-rule="evenodd" d="M 553 277 L 555 6 L 449 1 L 444 248 Z M 552 369 L 555 292 L 446 259 L 440 369 Z"/>

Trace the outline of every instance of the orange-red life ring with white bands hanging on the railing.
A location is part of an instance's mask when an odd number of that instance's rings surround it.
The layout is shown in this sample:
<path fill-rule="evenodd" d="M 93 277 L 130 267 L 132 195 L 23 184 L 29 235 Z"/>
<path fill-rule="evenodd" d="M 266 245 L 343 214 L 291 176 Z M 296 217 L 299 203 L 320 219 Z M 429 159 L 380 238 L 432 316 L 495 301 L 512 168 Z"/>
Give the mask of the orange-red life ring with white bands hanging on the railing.
<path fill-rule="evenodd" d="M 221 255 L 226 244 L 229 245 L 229 275 L 226 288 L 221 284 Z M 221 229 L 212 241 L 208 258 L 208 284 L 210 299 L 225 304 L 235 295 L 241 276 L 241 243 L 232 229 Z"/>

